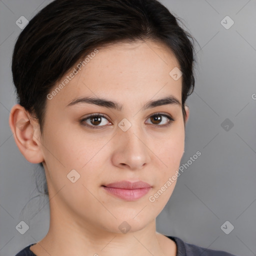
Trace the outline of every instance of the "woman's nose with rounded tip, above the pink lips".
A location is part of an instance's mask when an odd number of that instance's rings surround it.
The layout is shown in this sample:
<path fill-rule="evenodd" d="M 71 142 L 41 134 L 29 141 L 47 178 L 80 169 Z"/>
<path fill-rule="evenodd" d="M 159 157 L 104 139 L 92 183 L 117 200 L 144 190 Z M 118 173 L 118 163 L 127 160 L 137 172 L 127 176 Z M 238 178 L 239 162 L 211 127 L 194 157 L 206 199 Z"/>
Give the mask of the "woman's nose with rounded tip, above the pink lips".
<path fill-rule="evenodd" d="M 119 168 L 141 169 L 150 162 L 152 149 L 146 143 L 142 129 L 132 125 L 128 130 L 119 129 L 115 135 L 112 163 Z"/>

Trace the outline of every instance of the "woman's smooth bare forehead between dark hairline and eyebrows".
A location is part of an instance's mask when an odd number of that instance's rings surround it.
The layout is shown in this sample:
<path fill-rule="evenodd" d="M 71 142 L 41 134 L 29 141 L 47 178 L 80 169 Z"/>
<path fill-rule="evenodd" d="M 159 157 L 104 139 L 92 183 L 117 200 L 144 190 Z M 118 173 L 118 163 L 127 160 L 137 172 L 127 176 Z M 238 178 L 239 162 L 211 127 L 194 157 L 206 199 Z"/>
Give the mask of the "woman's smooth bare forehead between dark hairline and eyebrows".
<path fill-rule="evenodd" d="M 79 96 L 131 103 L 166 94 L 173 94 L 181 101 L 181 78 L 174 80 L 169 75 L 174 67 L 180 69 L 179 63 L 162 43 L 121 42 L 98 48 L 85 58 L 77 72 L 71 69 L 56 83 L 55 87 L 64 85 L 49 104 L 55 101 L 54 104 L 64 107 Z M 70 75 L 72 72 L 75 74 Z"/>

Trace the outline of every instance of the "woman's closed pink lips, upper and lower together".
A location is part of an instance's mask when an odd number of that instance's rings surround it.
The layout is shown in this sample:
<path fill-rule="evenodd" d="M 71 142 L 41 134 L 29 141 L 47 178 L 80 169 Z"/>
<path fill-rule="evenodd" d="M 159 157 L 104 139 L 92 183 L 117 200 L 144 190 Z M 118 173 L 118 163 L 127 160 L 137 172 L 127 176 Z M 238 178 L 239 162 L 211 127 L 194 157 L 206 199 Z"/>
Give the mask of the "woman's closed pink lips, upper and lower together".
<path fill-rule="evenodd" d="M 135 201 L 145 195 L 151 189 L 151 185 L 143 181 L 130 182 L 122 180 L 104 185 L 103 188 L 118 198 Z"/>

